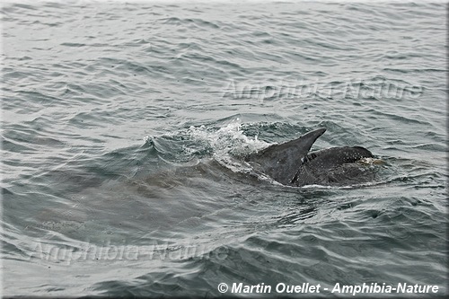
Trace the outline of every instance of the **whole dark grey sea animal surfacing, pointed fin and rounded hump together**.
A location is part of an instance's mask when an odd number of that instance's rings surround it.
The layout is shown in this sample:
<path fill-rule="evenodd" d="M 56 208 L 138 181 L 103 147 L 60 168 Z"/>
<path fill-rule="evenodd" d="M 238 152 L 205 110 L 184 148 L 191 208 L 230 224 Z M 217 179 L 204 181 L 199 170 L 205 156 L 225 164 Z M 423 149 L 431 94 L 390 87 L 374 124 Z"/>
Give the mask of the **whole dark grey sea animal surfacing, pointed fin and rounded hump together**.
<path fill-rule="evenodd" d="M 270 145 L 248 155 L 245 161 L 254 171 L 288 186 L 342 186 L 373 180 L 373 169 L 357 163 L 363 158 L 373 158 L 364 147 L 331 147 L 309 153 L 313 143 L 325 131 L 325 128 L 319 128 L 284 144 Z"/>

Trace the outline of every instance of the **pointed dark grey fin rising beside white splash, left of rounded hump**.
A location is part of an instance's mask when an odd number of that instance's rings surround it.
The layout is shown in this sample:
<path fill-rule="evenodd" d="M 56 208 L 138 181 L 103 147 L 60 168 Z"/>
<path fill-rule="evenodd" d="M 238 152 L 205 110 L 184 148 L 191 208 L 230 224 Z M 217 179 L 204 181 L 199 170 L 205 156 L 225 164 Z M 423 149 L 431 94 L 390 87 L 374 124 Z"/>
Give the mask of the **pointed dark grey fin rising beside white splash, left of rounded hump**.
<path fill-rule="evenodd" d="M 301 165 L 301 160 L 325 131 L 325 128 L 319 128 L 284 144 L 270 145 L 259 153 L 247 156 L 245 161 L 251 163 L 255 171 L 263 172 L 282 184 L 288 184 Z"/>

